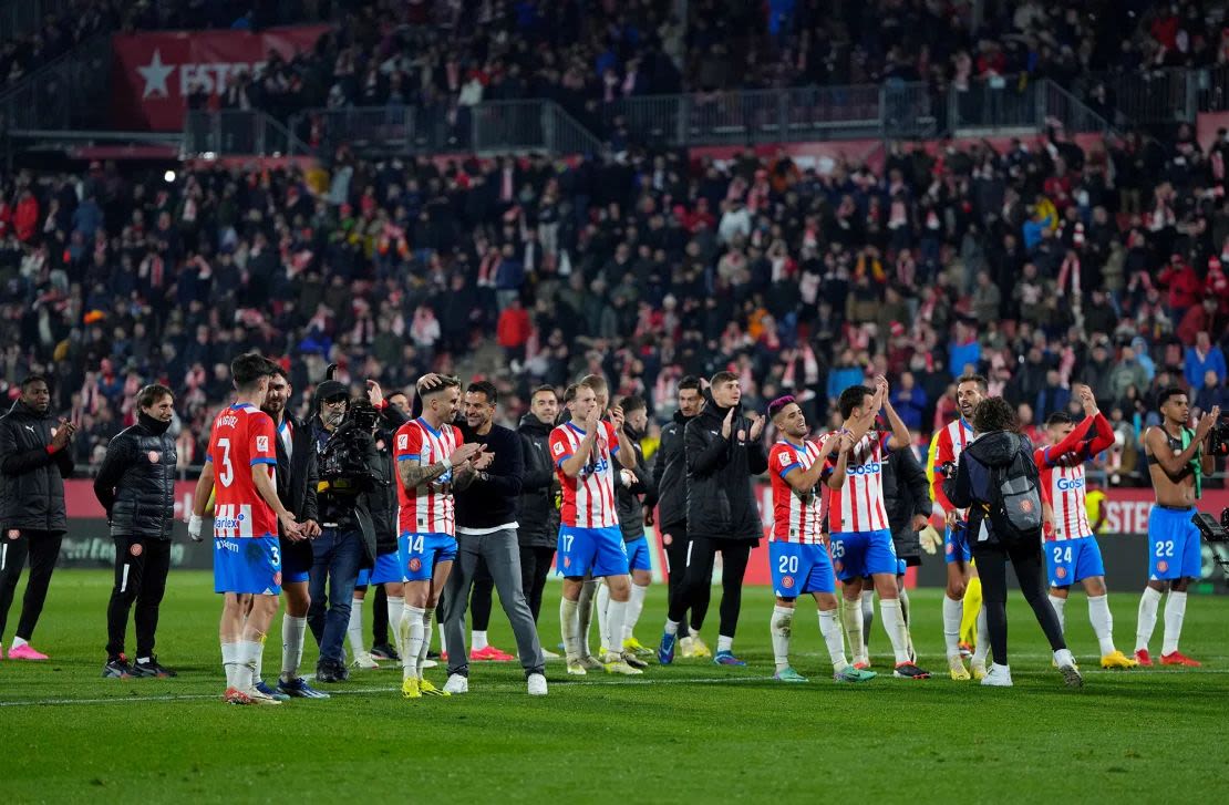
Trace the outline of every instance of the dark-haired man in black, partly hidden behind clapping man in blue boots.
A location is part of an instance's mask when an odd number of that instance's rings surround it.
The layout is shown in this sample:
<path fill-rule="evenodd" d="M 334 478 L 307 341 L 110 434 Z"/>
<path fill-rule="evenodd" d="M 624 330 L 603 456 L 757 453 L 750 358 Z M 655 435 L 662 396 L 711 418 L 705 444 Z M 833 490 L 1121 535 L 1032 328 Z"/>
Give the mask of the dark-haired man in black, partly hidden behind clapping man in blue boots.
<path fill-rule="evenodd" d="M 683 429 L 704 407 L 699 380 L 688 375 L 678 381 L 678 410 L 661 429 L 658 460 L 653 465 L 653 483 L 644 497 L 644 525 L 661 524 L 658 532 L 666 548 L 666 585 L 671 611 L 678 615 L 678 654 L 683 658 L 710 658 L 713 653 L 697 633 L 687 630 L 687 457 L 683 455 Z M 656 517 L 654 516 L 656 506 Z M 681 607 L 681 608 L 676 608 Z M 699 610 L 698 607 L 703 607 Z M 701 623 L 708 613 L 708 600 L 693 602 L 693 617 Z"/>

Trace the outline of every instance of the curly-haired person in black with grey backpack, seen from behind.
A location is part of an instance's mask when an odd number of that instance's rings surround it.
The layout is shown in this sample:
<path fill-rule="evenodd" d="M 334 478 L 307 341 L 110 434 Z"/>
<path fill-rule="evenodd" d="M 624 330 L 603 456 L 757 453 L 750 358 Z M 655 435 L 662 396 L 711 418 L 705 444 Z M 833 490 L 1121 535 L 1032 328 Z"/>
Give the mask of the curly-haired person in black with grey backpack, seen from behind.
<path fill-rule="evenodd" d="M 1020 591 L 1050 640 L 1063 680 L 1079 687 L 1084 681 L 1046 595 L 1041 557 L 1045 506 L 1032 445 L 1020 434 L 1015 409 L 1002 397 L 987 397 L 977 404 L 973 433 L 976 439 L 960 454 L 955 477 L 946 473 L 943 489 L 952 505 L 968 509 L 968 541 L 981 569 L 986 626 L 994 656 L 982 685 L 1011 686 L 1007 658 L 1007 563 L 1010 562 Z M 1004 489 L 1011 490 L 1010 508 Z"/>

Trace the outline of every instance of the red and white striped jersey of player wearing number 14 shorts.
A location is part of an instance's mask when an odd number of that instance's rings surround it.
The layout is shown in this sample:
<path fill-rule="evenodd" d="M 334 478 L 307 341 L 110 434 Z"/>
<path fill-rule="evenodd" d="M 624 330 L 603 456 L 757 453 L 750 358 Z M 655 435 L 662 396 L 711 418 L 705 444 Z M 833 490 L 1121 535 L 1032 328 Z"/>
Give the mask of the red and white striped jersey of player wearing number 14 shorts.
<path fill-rule="evenodd" d="M 431 428 L 422 417 L 397 429 L 393 454 L 397 462 L 417 460 L 422 466 L 434 465 L 452 455 L 465 439 L 456 425 Z M 397 533 L 446 533 L 456 536 L 456 511 L 452 500 L 451 471 L 420 487 L 407 490 L 397 482 Z"/>

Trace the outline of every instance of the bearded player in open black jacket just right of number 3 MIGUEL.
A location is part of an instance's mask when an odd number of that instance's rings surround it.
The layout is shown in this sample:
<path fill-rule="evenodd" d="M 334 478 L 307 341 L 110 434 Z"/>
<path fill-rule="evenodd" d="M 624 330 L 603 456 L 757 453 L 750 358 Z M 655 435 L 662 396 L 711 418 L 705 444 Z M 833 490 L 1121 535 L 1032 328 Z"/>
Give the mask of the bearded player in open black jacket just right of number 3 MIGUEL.
<path fill-rule="evenodd" d="M 286 599 L 286 612 L 281 618 L 281 672 L 270 687 L 262 671 L 263 651 L 257 655 L 256 689 L 279 701 L 290 698 L 327 699 L 328 693 L 312 688 L 299 675 L 304 656 L 304 637 L 307 632 L 307 613 L 311 610 L 308 578 L 312 565 L 310 540 L 320 535 L 320 514 L 316 508 L 316 485 L 320 481 L 316 465 L 316 445 L 308 423 L 300 422 L 290 413 L 294 388 L 290 375 L 281 366 L 273 365 L 269 391 L 261 410 L 269 414 L 277 430 L 277 488 L 281 505 L 295 515 L 302 525 L 306 540 L 289 540 L 278 525 L 278 547 L 281 549 L 281 592 Z"/>

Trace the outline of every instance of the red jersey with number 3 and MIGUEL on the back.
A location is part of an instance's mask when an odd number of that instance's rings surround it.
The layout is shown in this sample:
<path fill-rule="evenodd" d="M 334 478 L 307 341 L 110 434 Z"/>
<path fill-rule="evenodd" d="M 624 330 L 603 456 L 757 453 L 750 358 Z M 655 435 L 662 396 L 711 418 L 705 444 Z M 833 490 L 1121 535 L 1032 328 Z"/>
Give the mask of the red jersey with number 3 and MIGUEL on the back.
<path fill-rule="evenodd" d="M 277 536 L 278 515 L 252 481 L 257 465 L 274 479 L 277 438 L 273 419 L 252 404 L 230 406 L 214 419 L 205 455 L 214 465 L 214 538 Z"/>

